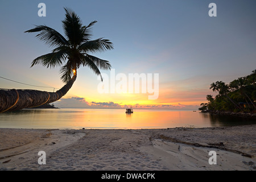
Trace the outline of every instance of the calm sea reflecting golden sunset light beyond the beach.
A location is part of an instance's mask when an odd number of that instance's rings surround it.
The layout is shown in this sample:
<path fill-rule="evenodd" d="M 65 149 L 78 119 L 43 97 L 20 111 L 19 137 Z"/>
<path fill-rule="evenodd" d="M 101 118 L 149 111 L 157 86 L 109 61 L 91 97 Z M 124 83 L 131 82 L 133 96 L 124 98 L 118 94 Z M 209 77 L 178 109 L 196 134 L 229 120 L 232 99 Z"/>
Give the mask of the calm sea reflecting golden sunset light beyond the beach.
<path fill-rule="evenodd" d="M 23 129 L 162 129 L 255 124 L 255 119 L 184 110 L 24 109 L 0 114 L 0 128 Z"/>

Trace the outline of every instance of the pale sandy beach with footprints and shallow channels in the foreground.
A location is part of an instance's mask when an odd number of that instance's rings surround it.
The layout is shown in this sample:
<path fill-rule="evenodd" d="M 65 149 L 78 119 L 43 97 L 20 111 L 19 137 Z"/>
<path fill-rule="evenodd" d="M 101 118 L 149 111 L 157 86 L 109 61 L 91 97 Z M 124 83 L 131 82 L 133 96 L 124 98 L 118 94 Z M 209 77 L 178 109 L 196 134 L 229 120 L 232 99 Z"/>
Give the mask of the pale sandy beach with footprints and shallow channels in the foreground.
<path fill-rule="evenodd" d="M 141 130 L 0 129 L 0 170 L 256 169 L 256 125 Z M 39 164 L 39 151 L 46 164 Z M 216 164 L 209 164 L 210 151 Z"/>

